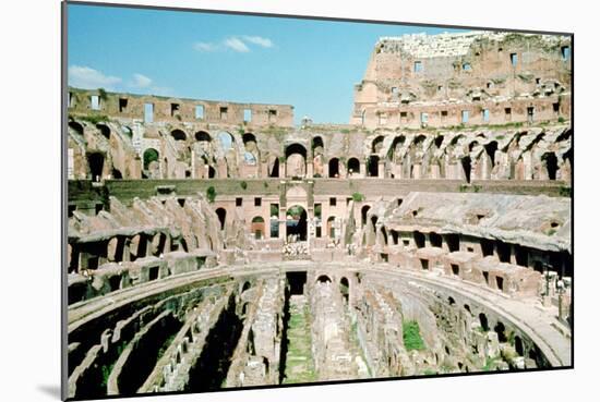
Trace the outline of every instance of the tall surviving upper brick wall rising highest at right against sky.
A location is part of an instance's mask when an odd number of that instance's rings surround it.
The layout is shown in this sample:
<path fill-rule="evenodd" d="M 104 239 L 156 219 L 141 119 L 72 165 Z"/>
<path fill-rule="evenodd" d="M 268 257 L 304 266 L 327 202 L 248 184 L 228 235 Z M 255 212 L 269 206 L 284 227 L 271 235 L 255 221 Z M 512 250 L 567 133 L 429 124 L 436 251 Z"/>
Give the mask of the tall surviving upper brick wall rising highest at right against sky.
<path fill-rule="evenodd" d="M 475 32 L 381 38 L 355 87 L 365 127 L 571 118 L 571 38 Z"/>

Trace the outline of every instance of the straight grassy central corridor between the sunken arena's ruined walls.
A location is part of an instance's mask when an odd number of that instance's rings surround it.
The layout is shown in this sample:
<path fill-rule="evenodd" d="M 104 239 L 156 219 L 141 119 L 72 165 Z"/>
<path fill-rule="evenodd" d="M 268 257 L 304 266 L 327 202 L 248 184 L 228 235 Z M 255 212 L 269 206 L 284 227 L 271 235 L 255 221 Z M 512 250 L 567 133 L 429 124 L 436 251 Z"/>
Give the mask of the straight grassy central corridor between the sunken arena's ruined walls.
<path fill-rule="evenodd" d="M 312 357 L 312 340 L 307 297 L 293 295 L 289 300 L 288 351 L 284 383 L 316 380 Z"/>

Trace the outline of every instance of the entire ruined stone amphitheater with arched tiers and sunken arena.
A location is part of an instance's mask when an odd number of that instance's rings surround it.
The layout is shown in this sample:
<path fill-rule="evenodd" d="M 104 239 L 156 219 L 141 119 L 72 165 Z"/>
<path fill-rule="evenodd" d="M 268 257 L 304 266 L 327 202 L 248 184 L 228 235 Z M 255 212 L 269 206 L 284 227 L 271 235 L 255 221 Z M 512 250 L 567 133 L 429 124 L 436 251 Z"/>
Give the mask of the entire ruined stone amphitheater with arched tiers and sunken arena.
<path fill-rule="evenodd" d="M 69 395 L 571 366 L 571 73 L 382 38 L 347 125 L 69 88 Z"/>

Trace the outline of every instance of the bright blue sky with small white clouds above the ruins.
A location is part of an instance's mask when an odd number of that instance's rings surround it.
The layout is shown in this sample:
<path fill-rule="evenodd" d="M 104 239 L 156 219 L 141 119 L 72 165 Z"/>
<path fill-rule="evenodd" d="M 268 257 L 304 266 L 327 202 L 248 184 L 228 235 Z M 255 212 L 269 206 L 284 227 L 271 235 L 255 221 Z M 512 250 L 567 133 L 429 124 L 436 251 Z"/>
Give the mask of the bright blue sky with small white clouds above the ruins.
<path fill-rule="evenodd" d="M 381 36 L 448 28 L 70 4 L 69 85 L 295 106 L 347 123 Z"/>

